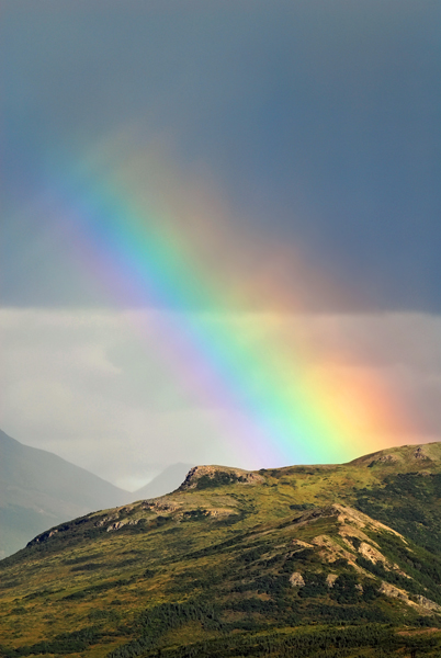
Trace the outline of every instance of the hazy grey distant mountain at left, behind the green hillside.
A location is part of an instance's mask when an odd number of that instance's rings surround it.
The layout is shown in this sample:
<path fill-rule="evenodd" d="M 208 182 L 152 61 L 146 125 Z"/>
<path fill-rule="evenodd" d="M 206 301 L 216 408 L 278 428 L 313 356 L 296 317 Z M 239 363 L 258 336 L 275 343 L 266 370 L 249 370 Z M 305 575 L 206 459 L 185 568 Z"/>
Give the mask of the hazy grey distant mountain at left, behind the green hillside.
<path fill-rule="evenodd" d="M 0 431 L 0 557 L 52 525 L 129 498 L 88 470 Z"/>

